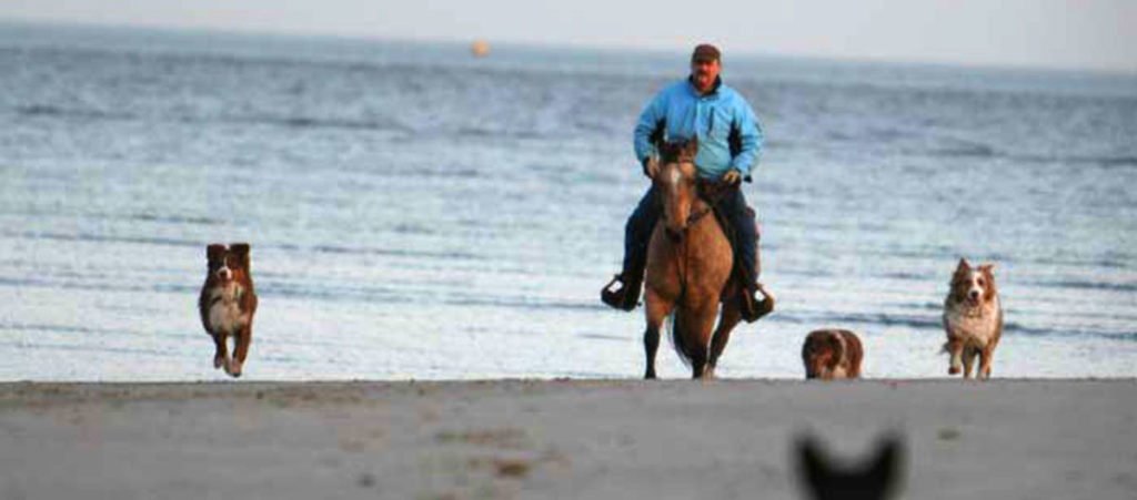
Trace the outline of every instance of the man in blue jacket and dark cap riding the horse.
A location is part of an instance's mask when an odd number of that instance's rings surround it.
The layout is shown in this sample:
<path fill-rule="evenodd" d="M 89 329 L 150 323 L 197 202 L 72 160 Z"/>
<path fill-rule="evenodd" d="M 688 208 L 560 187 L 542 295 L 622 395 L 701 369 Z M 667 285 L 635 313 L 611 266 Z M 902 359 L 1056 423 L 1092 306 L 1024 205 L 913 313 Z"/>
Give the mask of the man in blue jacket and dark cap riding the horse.
<path fill-rule="evenodd" d="M 762 150 L 762 128 L 746 99 L 723 85 L 721 69 L 719 49 L 709 44 L 695 48 L 690 76 L 661 90 L 640 114 L 636 125 L 636 157 L 644 166 L 644 174 L 655 177 L 658 170 L 655 144 L 664 139 L 697 139 L 698 176 L 730 185 L 714 205 L 735 233 L 735 265 L 746 289 L 742 319 L 752 323 L 773 309 L 773 298 L 761 290 L 757 281 L 758 233 L 754 211 L 747 207 L 740 189 L 742 180 L 750 181 L 750 166 Z M 624 227 L 623 272 L 600 291 L 604 303 L 626 311 L 636 308 L 647 247 L 659 213 L 655 189 L 649 189 Z M 622 286 L 611 290 L 616 282 Z M 763 299 L 755 295 L 760 291 Z"/>

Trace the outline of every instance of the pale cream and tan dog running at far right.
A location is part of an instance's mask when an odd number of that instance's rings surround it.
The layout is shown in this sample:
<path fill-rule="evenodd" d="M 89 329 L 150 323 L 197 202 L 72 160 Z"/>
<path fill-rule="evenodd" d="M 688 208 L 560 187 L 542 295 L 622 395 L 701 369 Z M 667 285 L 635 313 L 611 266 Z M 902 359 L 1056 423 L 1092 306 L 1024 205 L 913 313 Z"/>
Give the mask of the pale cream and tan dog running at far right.
<path fill-rule="evenodd" d="M 952 289 L 944 301 L 944 330 L 947 332 L 944 351 L 952 355 L 947 369 L 951 375 L 960 373 L 962 363 L 963 377 L 970 378 L 971 367 L 979 356 L 976 376 L 991 376 L 991 355 L 1003 335 L 1003 308 L 995 289 L 994 267 L 991 264 L 971 267 L 966 259 L 960 259 L 952 276 Z"/>

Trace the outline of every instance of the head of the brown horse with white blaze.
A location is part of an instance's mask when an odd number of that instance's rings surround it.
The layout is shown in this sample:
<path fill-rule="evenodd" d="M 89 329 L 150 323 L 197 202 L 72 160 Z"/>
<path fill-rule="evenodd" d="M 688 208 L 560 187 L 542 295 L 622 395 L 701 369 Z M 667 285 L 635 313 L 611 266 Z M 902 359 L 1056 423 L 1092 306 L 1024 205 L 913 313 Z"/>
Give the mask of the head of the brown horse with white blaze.
<path fill-rule="evenodd" d="M 691 207 L 698 199 L 695 186 L 695 155 L 698 139 L 659 144 L 659 170 L 653 182 L 663 201 L 663 222 L 667 236 L 680 241 L 687 231 Z"/>

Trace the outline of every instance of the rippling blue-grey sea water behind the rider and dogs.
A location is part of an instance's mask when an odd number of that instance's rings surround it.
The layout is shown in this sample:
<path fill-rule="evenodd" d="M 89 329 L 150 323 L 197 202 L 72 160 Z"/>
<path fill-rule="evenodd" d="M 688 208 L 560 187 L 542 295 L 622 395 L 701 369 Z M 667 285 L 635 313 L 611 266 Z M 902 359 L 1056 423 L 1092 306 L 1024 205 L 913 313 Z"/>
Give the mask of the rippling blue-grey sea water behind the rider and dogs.
<path fill-rule="evenodd" d="M 941 377 L 957 260 L 995 376 L 1137 376 L 1137 76 L 725 57 L 767 140 L 774 315 L 724 377 Z M 256 380 L 639 377 L 609 310 L 644 103 L 686 53 L 0 25 L 0 380 L 222 380 L 210 242 L 252 244 Z M 683 377 L 670 349 L 661 376 Z"/>

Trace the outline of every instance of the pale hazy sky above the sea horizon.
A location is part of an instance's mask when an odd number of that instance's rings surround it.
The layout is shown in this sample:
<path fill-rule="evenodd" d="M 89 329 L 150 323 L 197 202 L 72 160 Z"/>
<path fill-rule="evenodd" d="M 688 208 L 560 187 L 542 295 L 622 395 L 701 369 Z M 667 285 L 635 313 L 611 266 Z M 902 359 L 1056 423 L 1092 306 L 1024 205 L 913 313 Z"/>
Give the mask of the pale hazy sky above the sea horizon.
<path fill-rule="evenodd" d="M 5 18 L 1137 73 L 1137 0 L 3 0 Z"/>

